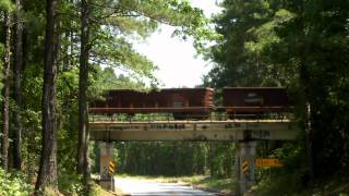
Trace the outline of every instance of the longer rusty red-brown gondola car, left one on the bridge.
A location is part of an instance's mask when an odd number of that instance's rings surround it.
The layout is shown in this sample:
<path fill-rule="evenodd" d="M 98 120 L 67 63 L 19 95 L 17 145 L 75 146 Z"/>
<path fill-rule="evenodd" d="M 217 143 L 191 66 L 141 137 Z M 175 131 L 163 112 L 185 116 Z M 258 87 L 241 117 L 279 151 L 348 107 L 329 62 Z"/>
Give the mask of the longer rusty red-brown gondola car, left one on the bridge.
<path fill-rule="evenodd" d="M 212 88 L 165 88 L 141 93 L 131 89 L 106 91 L 105 101 L 92 103 L 92 113 L 172 113 L 174 119 L 208 118 L 213 107 Z"/>

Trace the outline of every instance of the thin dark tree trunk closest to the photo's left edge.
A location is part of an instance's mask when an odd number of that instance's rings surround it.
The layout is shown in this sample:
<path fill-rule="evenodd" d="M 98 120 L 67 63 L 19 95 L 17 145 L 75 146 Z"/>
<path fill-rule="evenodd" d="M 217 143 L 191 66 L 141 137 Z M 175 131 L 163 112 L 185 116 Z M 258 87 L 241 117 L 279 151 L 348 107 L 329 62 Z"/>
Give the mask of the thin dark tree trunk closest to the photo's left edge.
<path fill-rule="evenodd" d="M 11 56 L 11 13 L 4 14 L 4 56 L 3 56 L 3 108 L 2 108 L 2 167 L 9 169 L 9 94 L 10 94 L 10 56 Z"/>

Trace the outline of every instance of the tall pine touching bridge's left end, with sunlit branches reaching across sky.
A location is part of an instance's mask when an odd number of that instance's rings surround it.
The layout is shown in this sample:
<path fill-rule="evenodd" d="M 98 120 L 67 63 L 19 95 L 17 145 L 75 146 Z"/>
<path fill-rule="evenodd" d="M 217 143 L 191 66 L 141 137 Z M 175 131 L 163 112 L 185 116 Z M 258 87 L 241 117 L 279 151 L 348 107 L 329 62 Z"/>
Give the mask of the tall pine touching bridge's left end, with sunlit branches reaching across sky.
<path fill-rule="evenodd" d="M 79 144 L 77 173 L 84 174 L 88 184 L 88 128 L 87 89 L 89 61 L 110 66 L 124 68 L 137 77 L 155 82 L 152 62 L 132 49 L 125 34 L 146 37 L 158 23 L 182 27 L 177 34 L 197 35 L 205 32 L 202 11 L 193 9 L 186 1 L 100 1 L 82 0 L 81 3 L 81 54 L 79 86 Z M 92 32 L 94 29 L 94 32 Z"/>

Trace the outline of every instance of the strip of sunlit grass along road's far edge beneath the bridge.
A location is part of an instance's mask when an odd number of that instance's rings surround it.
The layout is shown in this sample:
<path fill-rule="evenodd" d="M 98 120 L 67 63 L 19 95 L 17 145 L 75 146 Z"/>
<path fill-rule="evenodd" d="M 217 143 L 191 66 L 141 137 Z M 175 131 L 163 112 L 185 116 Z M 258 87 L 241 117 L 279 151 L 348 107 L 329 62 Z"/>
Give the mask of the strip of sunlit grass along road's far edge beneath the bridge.
<path fill-rule="evenodd" d="M 161 183 L 179 183 L 183 185 L 192 185 L 196 188 L 216 191 L 221 193 L 232 193 L 236 181 L 233 179 L 210 177 L 207 175 L 193 176 L 151 176 L 151 175 L 130 175 L 118 174 L 117 177 L 127 177 L 133 180 L 152 180 Z"/>

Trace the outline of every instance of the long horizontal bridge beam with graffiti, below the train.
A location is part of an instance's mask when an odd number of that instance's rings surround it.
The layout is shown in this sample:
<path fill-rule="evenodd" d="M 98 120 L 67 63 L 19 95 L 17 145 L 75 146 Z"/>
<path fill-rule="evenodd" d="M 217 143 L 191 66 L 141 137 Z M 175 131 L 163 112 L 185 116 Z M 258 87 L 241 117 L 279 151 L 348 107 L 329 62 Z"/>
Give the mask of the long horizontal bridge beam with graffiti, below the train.
<path fill-rule="evenodd" d="M 92 140 L 106 142 L 287 140 L 298 133 L 289 121 L 91 122 L 89 130 Z"/>

